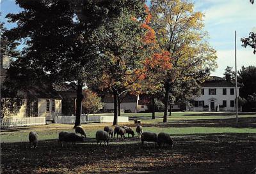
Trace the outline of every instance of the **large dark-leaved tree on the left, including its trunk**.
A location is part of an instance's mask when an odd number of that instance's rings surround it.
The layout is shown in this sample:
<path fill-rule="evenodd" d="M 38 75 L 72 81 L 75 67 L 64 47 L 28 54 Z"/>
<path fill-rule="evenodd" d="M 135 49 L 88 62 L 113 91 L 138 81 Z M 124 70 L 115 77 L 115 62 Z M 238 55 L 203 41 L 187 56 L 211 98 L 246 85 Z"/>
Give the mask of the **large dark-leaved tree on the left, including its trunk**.
<path fill-rule="evenodd" d="M 84 83 L 99 74 L 99 50 L 92 40 L 95 29 L 121 11 L 136 10 L 136 1 L 24 1 L 17 0 L 18 14 L 8 14 L 17 27 L 8 31 L 12 40 L 24 41 L 22 57 L 15 62 L 16 79 L 37 83 L 76 84 L 75 127 L 80 124 Z"/>

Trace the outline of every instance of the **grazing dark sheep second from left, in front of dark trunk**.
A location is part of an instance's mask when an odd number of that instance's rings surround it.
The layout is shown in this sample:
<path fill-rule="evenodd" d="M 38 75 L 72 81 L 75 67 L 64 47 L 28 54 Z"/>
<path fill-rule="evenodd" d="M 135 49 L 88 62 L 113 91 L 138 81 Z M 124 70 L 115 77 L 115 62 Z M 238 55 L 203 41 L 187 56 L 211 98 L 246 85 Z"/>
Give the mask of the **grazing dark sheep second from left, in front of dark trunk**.
<path fill-rule="evenodd" d="M 71 142 L 73 145 L 75 145 L 76 141 L 84 142 L 85 138 L 83 136 L 78 136 L 75 133 L 60 132 L 59 143 L 61 143 L 61 147 L 63 147 L 62 141 Z"/>

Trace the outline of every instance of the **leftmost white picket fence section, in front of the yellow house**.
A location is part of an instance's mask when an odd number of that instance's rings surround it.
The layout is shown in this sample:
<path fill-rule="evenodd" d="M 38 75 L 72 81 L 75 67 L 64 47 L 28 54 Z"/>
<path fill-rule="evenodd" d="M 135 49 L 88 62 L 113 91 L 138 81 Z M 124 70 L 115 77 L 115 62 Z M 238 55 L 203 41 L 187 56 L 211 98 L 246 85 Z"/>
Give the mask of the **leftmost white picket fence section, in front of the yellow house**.
<path fill-rule="evenodd" d="M 1 127 L 44 125 L 45 117 L 5 117 Z"/>

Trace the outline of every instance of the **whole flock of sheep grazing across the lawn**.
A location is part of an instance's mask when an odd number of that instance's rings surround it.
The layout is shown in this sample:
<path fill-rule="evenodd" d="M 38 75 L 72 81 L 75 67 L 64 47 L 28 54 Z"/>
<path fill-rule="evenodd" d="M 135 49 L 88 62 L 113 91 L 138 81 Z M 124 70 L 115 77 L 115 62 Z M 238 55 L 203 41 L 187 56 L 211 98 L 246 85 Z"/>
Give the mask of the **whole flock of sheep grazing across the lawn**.
<path fill-rule="evenodd" d="M 141 139 L 141 145 L 143 146 L 145 142 L 152 142 L 155 146 L 159 147 L 173 147 L 173 140 L 168 133 L 152 133 L 152 132 L 144 132 L 143 127 L 138 125 L 135 129 L 136 133 L 138 134 L 137 138 Z M 79 136 L 78 134 L 81 134 Z M 117 140 L 124 140 L 125 134 L 127 134 L 127 138 L 129 138 L 129 135 L 131 134 L 132 138 L 134 138 L 134 130 L 132 130 L 132 127 L 128 126 L 115 126 L 113 129 L 110 126 L 105 126 L 103 130 L 98 130 L 95 134 L 95 139 L 97 144 L 102 145 L 101 143 L 104 143 L 104 146 L 107 146 L 109 144 L 109 141 L 115 139 Z M 114 135 L 114 136 L 113 136 Z M 118 139 L 118 135 L 120 135 L 120 138 Z M 35 133 L 35 131 L 31 131 L 29 133 L 29 143 L 31 145 L 31 148 L 36 148 L 38 145 L 38 135 Z M 86 141 L 86 131 L 84 131 L 82 126 L 77 126 L 75 129 L 75 133 L 65 132 L 61 131 L 59 133 L 58 137 L 58 143 L 60 143 L 61 147 L 63 147 L 63 142 L 72 143 L 72 145 L 76 145 L 77 142 L 85 142 Z"/>

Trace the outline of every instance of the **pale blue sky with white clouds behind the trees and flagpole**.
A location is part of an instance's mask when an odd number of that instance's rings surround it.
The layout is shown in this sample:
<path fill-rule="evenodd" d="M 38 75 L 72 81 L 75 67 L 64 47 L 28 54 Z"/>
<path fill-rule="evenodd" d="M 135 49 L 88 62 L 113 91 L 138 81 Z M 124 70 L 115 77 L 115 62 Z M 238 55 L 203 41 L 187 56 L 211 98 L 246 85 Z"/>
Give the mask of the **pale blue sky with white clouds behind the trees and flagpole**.
<path fill-rule="evenodd" d="M 8 13 L 18 13 L 21 9 L 14 0 L 1 1 L 1 21 L 8 29 L 15 24 L 8 24 L 4 18 Z M 256 33 L 256 4 L 249 0 L 194 0 L 195 11 L 204 13 L 204 30 L 209 33 L 209 44 L 217 51 L 218 68 L 211 75 L 223 76 L 227 66 L 235 70 L 235 31 L 237 31 L 237 70 L 242 66 L 256 66 L 253 49 L 241 47 L 241 38 Z M 147 0 L 150 4 L 150 0 Z"/>

